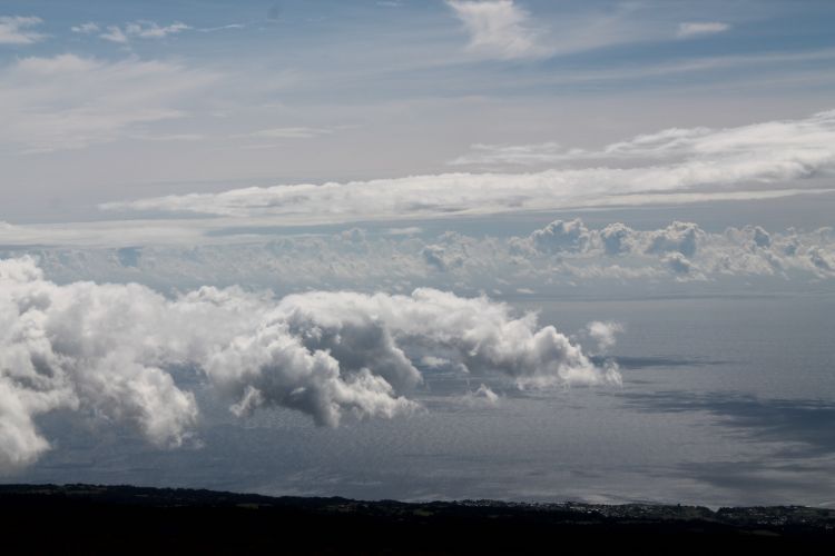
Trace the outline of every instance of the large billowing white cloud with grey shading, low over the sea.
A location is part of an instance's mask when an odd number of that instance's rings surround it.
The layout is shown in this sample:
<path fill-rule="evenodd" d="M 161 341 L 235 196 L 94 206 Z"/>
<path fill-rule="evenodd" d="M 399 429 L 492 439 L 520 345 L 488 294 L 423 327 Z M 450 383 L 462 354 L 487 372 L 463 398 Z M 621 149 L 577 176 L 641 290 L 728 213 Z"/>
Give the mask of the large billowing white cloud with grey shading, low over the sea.
<path fill-rule="evenodd" d="M 56 410 L 183 445 L 199 410 L 175 367 L 194 369 L 236 415 L 281 406 L 336 426 L 346 414 L 420 409 L 409 395 L 423 380 L 413 361 L 426 357 L 519 388 L 620 383 L 613 364 L 485 297 L 204 287 L 166 298 L 137 284 L 61 286 L 30 258 L 0 260 L 0 471 L 49 448 L 36 419 Z"/>

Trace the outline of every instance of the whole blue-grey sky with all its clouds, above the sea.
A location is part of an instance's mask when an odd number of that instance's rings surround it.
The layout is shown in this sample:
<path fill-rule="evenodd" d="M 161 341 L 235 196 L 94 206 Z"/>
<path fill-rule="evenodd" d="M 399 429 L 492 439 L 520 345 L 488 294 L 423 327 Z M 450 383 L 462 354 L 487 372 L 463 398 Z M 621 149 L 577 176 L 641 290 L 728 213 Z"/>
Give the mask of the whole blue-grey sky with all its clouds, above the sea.
<path fill-rule="evenodd" d="M 595 304 L 831 299 L 834 24 L 827 0 L 3 1 L 0 474 L 59 451 L 63 413 L 205 445 L 183 369 L 240 424 L 420 423 L 432 373 L 513 423 L 494 390 L 633 386 L 635 328 Z"/>

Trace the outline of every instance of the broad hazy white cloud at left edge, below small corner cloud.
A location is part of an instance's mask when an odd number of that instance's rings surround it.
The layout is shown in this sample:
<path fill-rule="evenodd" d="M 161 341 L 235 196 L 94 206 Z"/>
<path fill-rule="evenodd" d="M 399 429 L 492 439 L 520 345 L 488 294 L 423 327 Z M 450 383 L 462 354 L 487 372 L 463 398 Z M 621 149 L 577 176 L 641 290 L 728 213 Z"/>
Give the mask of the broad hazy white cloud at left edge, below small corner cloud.
<path fill-rule="evenodd" d="M 136 58 L 22 58 L 0 69 L 0 146 L 51 151 L 112 141 L 134 126 L 185 116 L 216 79 Z"/>

